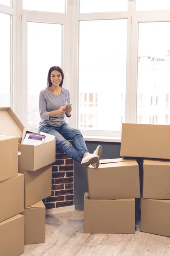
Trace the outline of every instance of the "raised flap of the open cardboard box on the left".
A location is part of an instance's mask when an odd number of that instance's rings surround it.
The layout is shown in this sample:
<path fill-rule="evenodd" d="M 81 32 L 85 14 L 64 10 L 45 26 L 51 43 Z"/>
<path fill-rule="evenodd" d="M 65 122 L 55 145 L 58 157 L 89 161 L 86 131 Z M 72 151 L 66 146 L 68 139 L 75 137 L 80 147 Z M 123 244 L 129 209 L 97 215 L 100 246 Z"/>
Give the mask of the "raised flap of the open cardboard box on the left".
<path fill-rule="evenodd" d="M 22 138 L 24 126 L 11 108 L 0 108 L 0 134 Z"/>

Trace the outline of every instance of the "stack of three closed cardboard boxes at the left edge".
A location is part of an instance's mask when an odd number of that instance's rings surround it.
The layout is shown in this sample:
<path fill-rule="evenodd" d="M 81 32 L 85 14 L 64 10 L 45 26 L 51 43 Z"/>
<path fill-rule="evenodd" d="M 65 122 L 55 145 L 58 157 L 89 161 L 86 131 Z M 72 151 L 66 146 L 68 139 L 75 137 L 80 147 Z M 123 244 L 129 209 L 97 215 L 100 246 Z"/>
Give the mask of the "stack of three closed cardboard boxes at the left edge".
<path fill-rule="evenodd" d="M 24 175 L 18 173 L 18 138 L 0 135 L 0 255 L 24 252 Z"/>

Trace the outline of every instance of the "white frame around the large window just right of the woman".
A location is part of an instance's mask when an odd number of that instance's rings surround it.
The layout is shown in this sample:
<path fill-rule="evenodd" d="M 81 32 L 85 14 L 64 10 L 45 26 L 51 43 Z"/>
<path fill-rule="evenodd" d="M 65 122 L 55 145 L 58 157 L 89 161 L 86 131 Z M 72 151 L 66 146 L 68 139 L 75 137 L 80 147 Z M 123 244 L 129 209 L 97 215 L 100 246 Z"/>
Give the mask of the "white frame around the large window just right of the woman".
<path fill-rule="evenodd" d="M 82 20 L 127 20 L 127 73 L 126 73 L 126 118 L 128 121 L 128 109 L 129 109 L 129 93 L 130 93 L 130 41 L 131 41 L 131 12 L 134 11 L 135 6 L 133 2 L 128 2 L 128 12 L 105 12 L 105 13 L 79 13 L 79 0 L 74 0 L 75 9 L 74 15 L 71 16 L 71 30 L 74 32 L 71 44 L 71 90 L 74 90 L 74 97 L 72 103 L 74 109 L 78 109 L 78 63 L 79 63 L 79 21 Z M 76 50 L 77 49 L 77 50 Z M 75 85 L 76 84 L 76 85 Z M 77 111 L 73 112 L 71 125 L 78 127 L 78 114 Z M 93 130 L 81 130 L 84 137 L 90 136 L 98 137 L 121 137 L 120 131 L 93 131 Z"/>

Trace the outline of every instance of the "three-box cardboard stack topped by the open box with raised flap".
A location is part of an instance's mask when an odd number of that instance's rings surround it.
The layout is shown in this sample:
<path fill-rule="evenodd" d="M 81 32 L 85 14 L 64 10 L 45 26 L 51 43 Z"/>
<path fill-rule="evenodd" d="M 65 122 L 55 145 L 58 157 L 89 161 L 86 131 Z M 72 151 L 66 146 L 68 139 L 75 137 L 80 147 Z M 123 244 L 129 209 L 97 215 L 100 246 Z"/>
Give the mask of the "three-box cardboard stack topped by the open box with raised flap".
<path fill-rule="evenodd" d="M 24 126 L 11 110 L 0 108 L 0 134 L 17 136 L 18 167 L 24 179 L 24 244 L 45 241 L 45 206 L 51 195 L 51 164 L 55 162 L 55 137 L 40 145 L 20 144 Z"/>

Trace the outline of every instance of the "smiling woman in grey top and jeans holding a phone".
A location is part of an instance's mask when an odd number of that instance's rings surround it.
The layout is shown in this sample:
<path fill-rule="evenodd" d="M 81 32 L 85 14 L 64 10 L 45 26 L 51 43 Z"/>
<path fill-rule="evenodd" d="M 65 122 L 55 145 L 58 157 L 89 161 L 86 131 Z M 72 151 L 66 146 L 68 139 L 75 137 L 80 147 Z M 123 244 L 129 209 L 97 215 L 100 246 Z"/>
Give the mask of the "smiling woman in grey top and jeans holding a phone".
<path fill-rule="evenodd" d="M 65 122 L 64 116 L 71 116 L 69 90 L 62 87 L 64 74 L 60 67 L 52 66 L 48 71 L 47 87 L 40 92 L 39 108 L 41 122 L 39 130 L 56 137 L 56 147 L 62 149 L 69 157 L 80 162 L 83 166 L 99 167 L 102 146 L 98 146 L 90 154 L 85 140 L 78 129 L 72 128 Z M 76 149 L 68 140 L 73 140 Z"/>

